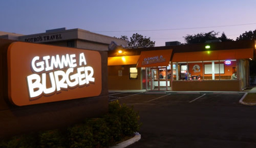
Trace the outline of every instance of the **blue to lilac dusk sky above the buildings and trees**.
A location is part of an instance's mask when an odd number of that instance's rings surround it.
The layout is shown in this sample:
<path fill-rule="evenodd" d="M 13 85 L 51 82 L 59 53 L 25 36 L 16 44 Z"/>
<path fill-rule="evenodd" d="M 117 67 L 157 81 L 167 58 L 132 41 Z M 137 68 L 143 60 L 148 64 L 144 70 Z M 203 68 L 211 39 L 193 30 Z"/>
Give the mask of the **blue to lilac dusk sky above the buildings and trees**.
<path fill-rule="evenodd" d="M 210 31 L 235 40 L 256 29 L 255 8 L 256 0 L 3 0 L 0 31 L 30 35 L 66 27 L 118 38 L 138 33 L 155 46 Z"/>

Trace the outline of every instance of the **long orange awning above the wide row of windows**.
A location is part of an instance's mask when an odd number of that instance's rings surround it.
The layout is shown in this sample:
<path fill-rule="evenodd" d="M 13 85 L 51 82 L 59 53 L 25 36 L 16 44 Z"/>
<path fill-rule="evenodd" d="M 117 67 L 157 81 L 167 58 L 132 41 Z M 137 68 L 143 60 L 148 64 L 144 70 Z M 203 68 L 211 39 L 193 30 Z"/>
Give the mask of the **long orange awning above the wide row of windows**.
<path fill-rule="evenodd" d="M 174 53 L 172 62 L 253 58 L 253 48 Z"/>

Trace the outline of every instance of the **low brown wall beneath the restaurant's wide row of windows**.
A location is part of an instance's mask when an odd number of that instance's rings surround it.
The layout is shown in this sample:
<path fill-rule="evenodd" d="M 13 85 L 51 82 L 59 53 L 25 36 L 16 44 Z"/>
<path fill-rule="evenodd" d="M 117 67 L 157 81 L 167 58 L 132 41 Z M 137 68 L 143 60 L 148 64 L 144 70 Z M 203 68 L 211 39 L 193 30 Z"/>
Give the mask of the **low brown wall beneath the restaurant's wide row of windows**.
<path fill-rule="evenodd" d="M 239 80 L 173 81 L 173 91 L 241 91 Z"/>

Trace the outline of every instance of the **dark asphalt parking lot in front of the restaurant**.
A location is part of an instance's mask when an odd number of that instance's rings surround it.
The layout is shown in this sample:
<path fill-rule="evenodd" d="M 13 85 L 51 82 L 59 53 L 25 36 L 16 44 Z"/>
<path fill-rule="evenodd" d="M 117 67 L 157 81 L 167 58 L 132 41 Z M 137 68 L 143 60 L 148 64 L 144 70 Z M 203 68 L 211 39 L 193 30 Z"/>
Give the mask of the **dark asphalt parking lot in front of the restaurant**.
<path fill-rule="evenodd" d="M 128 148 L 255 148 L 256 107 L 239 92 L 113 92 L 139 112 L 141 139 Z"/>

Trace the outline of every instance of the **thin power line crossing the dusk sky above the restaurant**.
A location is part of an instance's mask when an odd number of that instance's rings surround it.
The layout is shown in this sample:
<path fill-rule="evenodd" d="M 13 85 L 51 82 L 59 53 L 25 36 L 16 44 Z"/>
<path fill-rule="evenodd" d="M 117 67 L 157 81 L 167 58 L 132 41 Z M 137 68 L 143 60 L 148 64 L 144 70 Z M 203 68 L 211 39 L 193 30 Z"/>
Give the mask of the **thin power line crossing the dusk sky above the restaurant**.
<path fill-rule="evenodd" d="M 205 29 L 205 28 L 220 28 L 220 27 L 231 27 L 231 26 L 245 26 L 245 25 L 255 25 L 256 23 L 244 23 L 244 24 L 234 24 L 234 25 L 222 25 L 222 26 L 203 26 L 203 27 L 191 27 L 191 28 L 174 28 L 174 29 L 148 29 L 148 30 L 123 30 L 123 31 L 93 31 L 93 32 L 147 32 L 147 31 L 166 31 L 166 30 L 187 30 L 187 29 Z"/>

